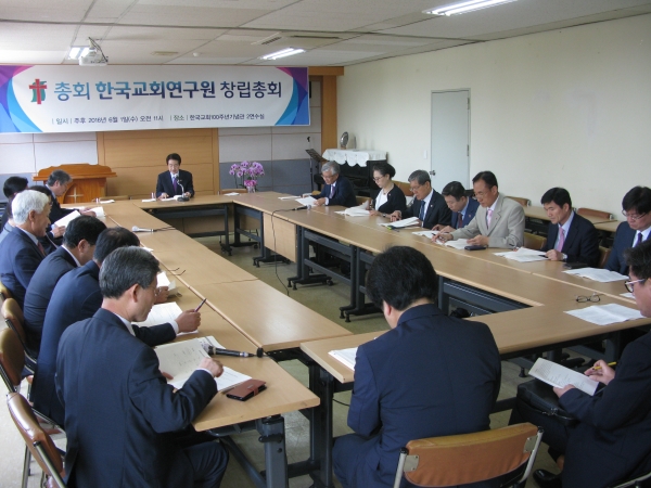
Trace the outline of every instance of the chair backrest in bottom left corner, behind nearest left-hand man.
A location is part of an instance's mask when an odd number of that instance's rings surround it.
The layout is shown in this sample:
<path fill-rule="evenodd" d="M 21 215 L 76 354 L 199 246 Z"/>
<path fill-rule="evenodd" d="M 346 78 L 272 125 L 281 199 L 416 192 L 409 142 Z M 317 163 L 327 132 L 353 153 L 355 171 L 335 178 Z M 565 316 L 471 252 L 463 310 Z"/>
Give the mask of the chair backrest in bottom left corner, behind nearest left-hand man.
<path fill-rule="evenodd" d="M 12 393 L 7 397 L 7 406 L 16 427 L 31 455 L 43 472 L 51 476 L 55 485 L 65 488 L 62 476 L 64 475 L 63 460 L 54 446 L 52 438 L 41 428 L 31 407 L 21 394 Z"/>

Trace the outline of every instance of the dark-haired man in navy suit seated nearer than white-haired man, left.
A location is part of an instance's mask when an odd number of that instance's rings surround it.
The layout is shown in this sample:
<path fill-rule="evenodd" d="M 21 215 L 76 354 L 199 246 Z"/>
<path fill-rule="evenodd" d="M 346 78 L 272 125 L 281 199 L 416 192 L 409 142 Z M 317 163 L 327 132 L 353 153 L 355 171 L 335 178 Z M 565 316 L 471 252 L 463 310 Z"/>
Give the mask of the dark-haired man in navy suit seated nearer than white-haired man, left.
<path fill-rule="evenodd" d="M 62 246 L 48 255 L 34 273 L 23 307 L 27 349 L 31 357 L 38 357 L 46 310 L 54 286 L 69 270 L 92 259 L 95 243 L 104 229 L 104 222 L 94 217 L 85 215 L 76 218 L 67 227 Z"/>

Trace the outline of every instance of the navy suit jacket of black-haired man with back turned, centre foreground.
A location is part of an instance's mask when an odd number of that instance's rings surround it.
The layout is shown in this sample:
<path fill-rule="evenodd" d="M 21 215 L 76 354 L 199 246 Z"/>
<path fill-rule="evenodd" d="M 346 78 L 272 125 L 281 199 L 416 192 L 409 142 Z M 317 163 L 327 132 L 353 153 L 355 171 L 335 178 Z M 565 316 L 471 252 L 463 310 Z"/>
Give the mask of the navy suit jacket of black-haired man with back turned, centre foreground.
<path fill-rule="evenodd" d="M 490 330 L 435 305 L 403 313 L 396 329 L 357 349 L 348 426 L 362 436 L 357 486 L 393 486 L 411 439 L 489 428 L 501 365 Z"/>

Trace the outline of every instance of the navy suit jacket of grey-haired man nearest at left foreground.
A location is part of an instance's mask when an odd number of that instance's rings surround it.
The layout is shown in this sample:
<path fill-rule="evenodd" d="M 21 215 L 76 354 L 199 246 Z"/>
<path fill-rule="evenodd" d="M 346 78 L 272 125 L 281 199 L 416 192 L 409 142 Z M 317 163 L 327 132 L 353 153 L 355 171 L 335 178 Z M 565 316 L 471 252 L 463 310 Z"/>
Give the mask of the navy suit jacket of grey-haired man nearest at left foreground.
<path fill-rule="evenodd" d="M 158 367 L 153 349 L 107 310 L 65 331 L 56 393 L 65 404 L 68 486 L 170 486 L 171 460 L 183 455 L 174 432 L 190 425 L 217 384 L 195 371 L 174 393 Z"/>

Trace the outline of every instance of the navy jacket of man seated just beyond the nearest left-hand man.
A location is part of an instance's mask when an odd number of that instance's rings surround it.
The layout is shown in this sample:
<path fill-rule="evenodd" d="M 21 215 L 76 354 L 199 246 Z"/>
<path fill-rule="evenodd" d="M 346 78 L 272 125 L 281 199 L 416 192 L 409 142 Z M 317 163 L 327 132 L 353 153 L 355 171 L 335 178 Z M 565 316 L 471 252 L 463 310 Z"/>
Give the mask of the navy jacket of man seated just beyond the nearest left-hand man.
<path fill-rule="evenodd" d="M 64 415 L 63 406 L 56 398 L 54 389 L 59 342 L 67 328 L 75 322 L 93 317 L 102 306 L 99 278 L 100 268 L 92 260 L 68 271 L 56 283 L 46 311 L 38 364 L 29 399 L 39 412 L 59 423 L 63 423 Z M 148 346 L 157 346 L 176 337 L 170 324 L 153 328 L 133 325 L 133 332 Z"/>

